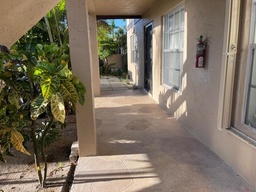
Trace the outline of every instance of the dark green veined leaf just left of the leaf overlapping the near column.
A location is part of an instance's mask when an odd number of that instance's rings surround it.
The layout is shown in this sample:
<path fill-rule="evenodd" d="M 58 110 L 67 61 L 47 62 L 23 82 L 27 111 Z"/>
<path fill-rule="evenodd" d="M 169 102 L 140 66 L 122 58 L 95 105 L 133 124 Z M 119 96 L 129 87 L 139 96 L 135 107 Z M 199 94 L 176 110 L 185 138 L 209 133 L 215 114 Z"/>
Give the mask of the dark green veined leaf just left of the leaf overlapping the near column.
<path fill-rule="evenodd" d="M 75 87 L 71 83 L 60 84 L 59 92 L 61 93 L 63 100 L 72 101 L 76 105 L 78 95 Z"/>

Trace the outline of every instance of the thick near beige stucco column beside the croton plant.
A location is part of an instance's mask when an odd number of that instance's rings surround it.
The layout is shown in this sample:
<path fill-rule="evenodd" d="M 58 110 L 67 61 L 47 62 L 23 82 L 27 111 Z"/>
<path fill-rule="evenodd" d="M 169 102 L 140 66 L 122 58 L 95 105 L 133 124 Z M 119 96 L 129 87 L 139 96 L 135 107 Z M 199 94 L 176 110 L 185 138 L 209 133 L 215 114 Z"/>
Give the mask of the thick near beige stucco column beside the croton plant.
<path fill-rule="evenodd" d="M 79 156 L 92 156 L 97 143 L 87 0 L 67 0 L 67 18 L 72 72 L 86 87 L 84 106 L 78 104 L 76 112 Z"/>

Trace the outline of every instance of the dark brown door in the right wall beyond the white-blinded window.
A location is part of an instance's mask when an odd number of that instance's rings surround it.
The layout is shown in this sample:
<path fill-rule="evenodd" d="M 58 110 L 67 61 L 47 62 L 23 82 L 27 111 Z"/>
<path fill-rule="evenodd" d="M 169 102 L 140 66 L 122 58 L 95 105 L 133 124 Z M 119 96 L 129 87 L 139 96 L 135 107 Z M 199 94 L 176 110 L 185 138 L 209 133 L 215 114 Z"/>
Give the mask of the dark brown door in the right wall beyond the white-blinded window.
<path fill-rule="evenodd" d="M 152 32 L 153 22 L 145 26 L 145 89 L 152 94 L 153 77 L 152 77 Z"/>

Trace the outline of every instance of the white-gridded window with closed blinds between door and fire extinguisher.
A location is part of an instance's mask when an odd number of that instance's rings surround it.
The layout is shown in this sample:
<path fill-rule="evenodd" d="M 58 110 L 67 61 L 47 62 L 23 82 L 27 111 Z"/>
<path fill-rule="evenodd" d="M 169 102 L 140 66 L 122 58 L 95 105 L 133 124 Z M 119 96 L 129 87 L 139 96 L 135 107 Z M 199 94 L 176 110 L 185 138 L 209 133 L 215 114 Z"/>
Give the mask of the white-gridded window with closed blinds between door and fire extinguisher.
<path fill-rule="evenodd" d="M 179 91 L 183 69 L 184 15 L 185 6 L 182 5 L 163 18 L 163 84 Z"/>

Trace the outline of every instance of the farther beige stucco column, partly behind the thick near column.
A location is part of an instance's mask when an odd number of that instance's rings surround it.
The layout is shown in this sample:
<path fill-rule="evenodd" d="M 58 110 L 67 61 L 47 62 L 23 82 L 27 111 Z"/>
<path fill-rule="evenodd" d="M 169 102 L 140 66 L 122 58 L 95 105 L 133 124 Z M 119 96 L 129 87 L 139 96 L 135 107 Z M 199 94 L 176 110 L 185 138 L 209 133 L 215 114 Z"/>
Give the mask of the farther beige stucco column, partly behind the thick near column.
<path fill-rule="evenodd" d="M 98 56 L 98 40 L 97 40 L 97 20 L 96 14 L 89 14 L 91 50 L 92 50 L 92 84 L 94 96 L 100 95 L 100 69 Z"/>

